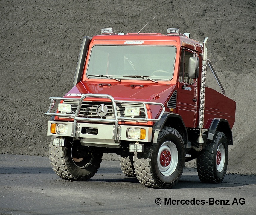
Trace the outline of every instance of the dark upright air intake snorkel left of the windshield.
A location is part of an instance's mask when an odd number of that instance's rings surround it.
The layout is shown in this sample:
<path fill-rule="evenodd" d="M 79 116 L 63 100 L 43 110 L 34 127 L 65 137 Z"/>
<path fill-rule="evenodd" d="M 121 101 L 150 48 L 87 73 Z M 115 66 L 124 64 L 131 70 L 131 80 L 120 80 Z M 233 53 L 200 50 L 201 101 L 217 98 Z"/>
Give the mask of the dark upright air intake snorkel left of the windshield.
<path fill-rule="evenodd" d="M 80 48 L 80 53 L 78 57 L 78 62 L 77 62 L 77 68 L 75 72 L 75 77 L 74 77 L 74 82 L 73 82 L 73 87 L 81 81 L 82 74 L 83 74 L 83 68 L 84 68 L 84 63 L 87 55 L 87 49 L 89 46 L 89 43 L 91 42 L 92 37 L 85 36 L 83 38 L 83 42 L 81 44 Z"/>

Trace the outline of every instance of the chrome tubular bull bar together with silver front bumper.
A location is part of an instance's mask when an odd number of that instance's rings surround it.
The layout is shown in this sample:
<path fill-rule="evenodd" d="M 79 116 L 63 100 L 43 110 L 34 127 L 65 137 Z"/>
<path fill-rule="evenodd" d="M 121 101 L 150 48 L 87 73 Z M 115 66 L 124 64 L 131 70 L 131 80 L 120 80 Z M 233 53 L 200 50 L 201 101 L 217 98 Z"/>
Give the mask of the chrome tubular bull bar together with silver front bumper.
<path fill-rule="evenodd" d="M 113 114 L 114 114 L 114 119 L 103 119 L 103 118 L 90 118 L 90 117 L 79 117 L 80 109 L 82 107 L 83 101 L 86 98 L 91 98 L 94 101 L 97 101 L 99 99 L 109 99 L 110 102 L 112 103 L 113 107 Z M 164 113 L 164 105 L 161 103 L 156 103 L 156 102 L 139 102 L 139 101 L 117 101 L 115 100 L 112 96 L 106 95 L 106 94 L 83 94 L 80 99 L 76 98 L 57 98 L 57 97 L 51 97 L 51 103 L 50 107 L 45 113 L 45 115 L 48 116 L 63 116 L 63 117 L 72 117 L 73 122 L 63 122 L 63 124 L 68 125 L 68 133 L 65 135 L 54 135 L 51 132 L 49 132 L 49 125 L 51 124 L 50 121 L 48 124 L 48 136 L 69 136 L 73 137 L 73 139 L 81 139 L 81 144 L 101 144 L 101 145 L 112 145 L 116 146 L 116 148 L 120 147 L 119 143 L 121 140 L 129 140 L 129 141 L 136 141 L 136 140 L 131 140 L 127 139 L 126 132 L 127 128 L 144 128 L 147 131 L 147 136 L 144 140 L 138 140 L 140 142 L 150 142 L 151 141 L 151 136 L 152 136 L 152 128 L 150 127 L 145 127 L 145 126 L 129 126 L 129 125 L 119 125 L 120 121 L 143 121 L 143 122 L 149 122 L 149 121 L 159 121 L 161 119 L 161 116 Z M 74 114 L 68 114 L 68 113 L 51 113 L 51 110 L 54 107 L 54 104 L 56 100 L 64 100 L 64 101 L 77 101 L 77 111 Z M 128 118 L 128 117 L 121 117 L 118 116 L 117 113 L 117 103 L 133 103 L 133 104 L 141 104 L 143 105 L 143 109 L 145 112 L 145 118 Z M 152 119 L 149 118 L 148 113 L 147 113 L 147 107 L 146 105 L 156 105 L 160 107 L 160 112 L 159 116 L 157 119 Z M 54 121 L 56 122 L 56 121 Z M 92 122 L 92 123 L 90 123 Z M 60 122 L 61 123 L 61 122 Z M 101 123 L 101 124 L 97 124 Z M 83 127 L 94 127 L 97 126 L 99 133 L 97 135 L 95 134 L 85 134 L 82 133 L 81 130 Z M 83 138 L 83 139 L 82 139 Z M 114 142 L 114 144 L 112 143 Z"/>

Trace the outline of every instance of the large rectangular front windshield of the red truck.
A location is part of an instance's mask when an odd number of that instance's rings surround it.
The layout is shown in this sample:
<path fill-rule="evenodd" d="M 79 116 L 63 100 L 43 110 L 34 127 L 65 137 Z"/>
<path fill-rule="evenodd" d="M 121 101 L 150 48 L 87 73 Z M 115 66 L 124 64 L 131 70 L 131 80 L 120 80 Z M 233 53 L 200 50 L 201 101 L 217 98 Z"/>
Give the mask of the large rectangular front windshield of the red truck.
<path fill-rule="evenodd" d="M 176 47 L 174 46 L 123 46 L 95 45 L 92 47 L 87 77 L 106 79 L 170 80 L 173 77 Z M 142 79 L 142 78 L 141 78 Z"/>

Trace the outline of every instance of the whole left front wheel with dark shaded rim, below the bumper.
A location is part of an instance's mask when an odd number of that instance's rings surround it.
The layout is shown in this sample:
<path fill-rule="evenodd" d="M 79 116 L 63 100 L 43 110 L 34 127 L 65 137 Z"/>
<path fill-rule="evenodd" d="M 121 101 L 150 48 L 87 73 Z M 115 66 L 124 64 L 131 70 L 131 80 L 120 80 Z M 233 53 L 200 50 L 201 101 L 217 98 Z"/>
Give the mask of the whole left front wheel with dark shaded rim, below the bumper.
<path fill-rule="evenodd" d="M 100 167 L 102 152 L 86 152 L 78 156 L 79 143 L 57 147 L 50 144 L 49 159 L 54 172 L 63 179 L 85 181 L 94 176 Z M 85 155 L 86 154 L 86 155 Z"/>

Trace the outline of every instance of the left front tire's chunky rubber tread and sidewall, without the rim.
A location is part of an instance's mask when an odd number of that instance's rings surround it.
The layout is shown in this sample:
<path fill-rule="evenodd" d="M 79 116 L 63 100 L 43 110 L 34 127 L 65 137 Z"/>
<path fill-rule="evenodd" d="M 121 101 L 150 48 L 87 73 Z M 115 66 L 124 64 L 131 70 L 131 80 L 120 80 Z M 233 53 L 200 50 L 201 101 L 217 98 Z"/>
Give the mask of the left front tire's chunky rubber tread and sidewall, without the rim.
<path fill-rule="evenodd" d="M 81 168 L 79 165 L 83 161 L 78 163 L 73 161 L 71 148 L 71 144 L 68 144 L 67 147 L 59 147 L 53 146 L 50 143 L 49 159 L 53 171 L 61 178 L 68 180 L 85 181 L 92 178 L 100 167 L 103 154 L 94 153 L 90 162 L 85 165 L 85 168 Z"/>

